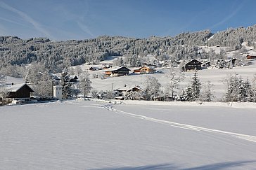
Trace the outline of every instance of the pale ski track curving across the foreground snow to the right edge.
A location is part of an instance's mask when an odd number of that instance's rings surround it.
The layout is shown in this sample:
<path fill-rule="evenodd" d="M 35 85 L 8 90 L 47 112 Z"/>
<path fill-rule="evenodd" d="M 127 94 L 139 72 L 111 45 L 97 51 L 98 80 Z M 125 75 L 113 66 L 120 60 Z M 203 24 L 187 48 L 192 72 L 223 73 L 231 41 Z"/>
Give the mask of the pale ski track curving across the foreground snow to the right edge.
<path fill-rule="evenodd" d="M 256 136 L 252 136 L 252 135 L 226 132 L 226 131 L 217 130 L 217 129 L 208 129 L 208 128 L 205 128 L 205 127 L 198 127 L 198 126 L 193 126 L 193 125 L 181 124 L 181 123 L 177 123 L 177 122 L 171 122 L 171 121 L 167 121 L 167 120 L 160 120 L 160 119 L 150 118 L 150 117 L 147 117 L 147 116 L 144 116 L 144 115 L 136 115 L 134 113 L 128 113 L 128 112 L 125 112 L 125 111 L 117 110 L 117 109 L 114 108 L 114 106 L 112 104 L 104 105 L 103 107 L 108 109 L 109 111 L 113 111 L 115 113 L 119 113 L 119 114 L 123 114 L 123 115 L 129 115 L 133 118 L 139 118 L 139 119 L 143 119 L 143 120 L 147 120 L 147 121 L 151 121 L 151 122 L 158 122 L 158 123 L 161 123 L 161 124 L 169 125 L 169 126 L 172 126 L 172 127 L 178 127 L 178 128 L 181 128 L 181 129 L 188 129 L 188 130 L 194 130 L 194 131 L 200 131 L 200 132 L 211 132 L 211 133 L 217 133 L 217 134 L 225 134 L 225 135 L 236 137 L 238 139 L 243 139 L 243 140 L 246 140 L 246 141 L 252 141 L 252 142 L 256 143 Z"/>

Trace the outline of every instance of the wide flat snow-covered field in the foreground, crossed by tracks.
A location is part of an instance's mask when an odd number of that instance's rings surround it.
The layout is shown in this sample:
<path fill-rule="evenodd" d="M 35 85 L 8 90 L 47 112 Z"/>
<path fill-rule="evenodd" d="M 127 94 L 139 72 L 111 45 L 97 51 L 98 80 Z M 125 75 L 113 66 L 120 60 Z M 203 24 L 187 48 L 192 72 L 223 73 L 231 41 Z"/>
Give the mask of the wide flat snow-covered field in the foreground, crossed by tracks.
<path fill-rule="evenodd" d="M 0 107 L 0 169 L 255 169 L 255 104 L 125 102 Z"/>

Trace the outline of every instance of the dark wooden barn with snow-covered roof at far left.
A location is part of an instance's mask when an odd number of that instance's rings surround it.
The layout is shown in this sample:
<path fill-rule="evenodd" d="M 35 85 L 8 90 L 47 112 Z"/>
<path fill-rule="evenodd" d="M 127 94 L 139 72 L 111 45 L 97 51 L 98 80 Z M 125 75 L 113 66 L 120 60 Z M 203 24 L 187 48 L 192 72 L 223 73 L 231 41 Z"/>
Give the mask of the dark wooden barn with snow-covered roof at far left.
<path fill-rule="evenodd" d="M 10 87 L 7 87 L 8 90 L 8 97 L 13 100 L 15 99 L 24 99 L 25 101 L 30 99 L 30 95 L 34 90 L 32 88 L 23 83 L 23 84 L 16 84 L 16 85 L 11 85 Z"/>

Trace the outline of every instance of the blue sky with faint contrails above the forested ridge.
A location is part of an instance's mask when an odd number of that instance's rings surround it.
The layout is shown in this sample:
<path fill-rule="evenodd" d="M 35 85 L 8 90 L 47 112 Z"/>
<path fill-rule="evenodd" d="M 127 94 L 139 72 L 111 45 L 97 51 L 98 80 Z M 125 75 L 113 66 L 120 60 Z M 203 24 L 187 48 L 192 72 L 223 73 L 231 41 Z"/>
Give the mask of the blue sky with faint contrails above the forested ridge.
<path fill-rule="evenodd" d="M 0 36 L 147 38 L 256 24 L 255 0 L 0 0 Z"/>

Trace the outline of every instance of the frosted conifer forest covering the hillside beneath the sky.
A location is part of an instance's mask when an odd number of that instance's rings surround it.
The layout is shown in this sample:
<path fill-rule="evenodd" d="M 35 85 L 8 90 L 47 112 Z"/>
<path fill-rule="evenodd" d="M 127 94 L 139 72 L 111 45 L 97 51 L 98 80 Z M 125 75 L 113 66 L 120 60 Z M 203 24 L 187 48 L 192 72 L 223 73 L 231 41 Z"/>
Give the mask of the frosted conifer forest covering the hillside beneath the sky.
<path fill-rule="evenodd" d="M 58 72 L 65 66 L 84 62 L 98 63 L 112 55 L 155 55 L 158 59 L 207 58 L 207 52 L 198 52 L 199 46 L 221 45 L 233 50 L 243 42 L 254 45 L 256 25 L 248 28 L 227 29 L 217 34 L 209 30 L 186 32 L 171 37 L 127 38 L 99 36 L 86 40 L 51 41 L 49 38 L 20 39 L 0 36 L 0 69 L 8 72 L 14 67 L 40 62 L 49 71 Z M 17 69 L 17 68 L 15 68 Z"/>

